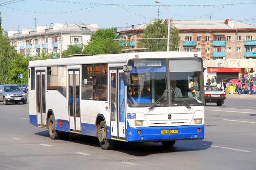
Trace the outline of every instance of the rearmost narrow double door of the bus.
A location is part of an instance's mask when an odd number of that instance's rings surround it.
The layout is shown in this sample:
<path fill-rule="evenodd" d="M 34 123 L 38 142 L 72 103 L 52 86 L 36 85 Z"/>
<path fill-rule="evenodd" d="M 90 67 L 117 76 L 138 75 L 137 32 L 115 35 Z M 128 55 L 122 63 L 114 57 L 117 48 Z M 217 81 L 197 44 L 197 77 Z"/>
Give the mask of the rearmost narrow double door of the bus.
<path fill-rule="evenodd" d="M 45 108 L 45 71 L 37 71 L 36 79 L 37 96 L 37 119 L 38 125 L 46 127 L 46 108 Z"/>

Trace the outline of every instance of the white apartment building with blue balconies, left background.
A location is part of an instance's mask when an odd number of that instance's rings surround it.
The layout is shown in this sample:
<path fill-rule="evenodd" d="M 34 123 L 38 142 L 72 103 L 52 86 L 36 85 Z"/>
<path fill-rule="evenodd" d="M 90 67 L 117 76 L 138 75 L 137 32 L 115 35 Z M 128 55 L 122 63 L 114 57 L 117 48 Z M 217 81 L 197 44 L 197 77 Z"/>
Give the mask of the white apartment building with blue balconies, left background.
<path fill-rule="evenodd" d="M 24 55 L 36 56 L 42 52 L 59 53 L 68 45 L 88 44 L 91 34 L 98 30 L 98 24 L 62 24 L 51 27 L 37 26 L 37 29 L 8 30 L 10 43 L 14 49 Z M 62 39 L 62 41 L 61 41 Z"/>

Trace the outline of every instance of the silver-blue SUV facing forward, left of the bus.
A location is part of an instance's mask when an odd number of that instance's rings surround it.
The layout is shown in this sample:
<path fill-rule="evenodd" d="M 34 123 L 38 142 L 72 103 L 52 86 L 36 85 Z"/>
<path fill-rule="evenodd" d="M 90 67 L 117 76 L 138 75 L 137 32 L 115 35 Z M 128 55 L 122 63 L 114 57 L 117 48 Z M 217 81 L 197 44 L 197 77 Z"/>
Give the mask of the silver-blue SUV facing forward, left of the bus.
<path fill-rule="evenodd" d="M 0 102 L 7 105 L 8 102 L 27 103 L 27 94 L 18 85 L 0 85 Z"/>

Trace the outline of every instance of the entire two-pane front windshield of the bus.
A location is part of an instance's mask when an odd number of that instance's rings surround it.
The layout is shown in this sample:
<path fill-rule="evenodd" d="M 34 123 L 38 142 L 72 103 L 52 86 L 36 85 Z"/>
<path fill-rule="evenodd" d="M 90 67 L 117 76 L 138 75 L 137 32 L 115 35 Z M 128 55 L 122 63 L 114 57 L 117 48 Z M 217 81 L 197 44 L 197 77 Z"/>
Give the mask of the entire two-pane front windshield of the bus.
<path fill-rule="evenodd" d="M 203 78 L 201 60 L 170 59 L 168 76 L 166 61 L 164 59 L 129 61 L 128 65 L 132 66 L 131 85 L 128 86 L 130 107 L 151 108 L 152 105 L 203 103 L 203 87 L 200 85 Z M 169 88 L 167 77 L 170 78 Z"/>

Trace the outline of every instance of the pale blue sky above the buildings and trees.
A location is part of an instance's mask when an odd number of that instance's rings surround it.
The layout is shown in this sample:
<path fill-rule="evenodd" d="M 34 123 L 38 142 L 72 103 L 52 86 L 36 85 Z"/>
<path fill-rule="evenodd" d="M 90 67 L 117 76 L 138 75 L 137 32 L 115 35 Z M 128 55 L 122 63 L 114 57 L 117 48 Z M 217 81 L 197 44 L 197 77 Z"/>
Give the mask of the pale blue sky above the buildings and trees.
<path fill-rule="evenodd" d="M 158 18 L 158 9 L 160 19 L 167 19 L 169 10 L 173 20 L 228 18 L 256 26 L 256 0 L 159 1 L 172 6 L 164 7 L 155 0 L 0 0 L 0 12 L 5 31 L 34 29 L 35 24 L 50 26 L 51 22 L 97 23 L 98 28 L 118 27 L 121 30 Z"/>

